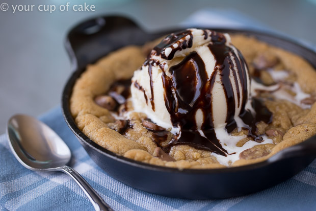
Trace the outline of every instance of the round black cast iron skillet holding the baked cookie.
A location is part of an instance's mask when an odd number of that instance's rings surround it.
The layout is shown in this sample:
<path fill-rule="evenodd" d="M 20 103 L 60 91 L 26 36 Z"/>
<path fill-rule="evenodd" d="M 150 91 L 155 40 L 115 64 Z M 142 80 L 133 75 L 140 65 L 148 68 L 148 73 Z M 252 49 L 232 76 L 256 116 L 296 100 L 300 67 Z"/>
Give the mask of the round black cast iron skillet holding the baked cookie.
<path fill-rule="evenodd" d="M 95 144 L 74 123 L 69 110 L 72 87 L 89 63 L 128 44 L 144 44 L 168 34 L 147 33 L 132 20 L 121 16 L 90 19 L 68 34 L 66 49 L 73 74 L 62 96 L 64 118 L 82 146 L 97 165 L 117 180 L 150 193 L 189 199 L 228 198 L 254 193 L 278 184 L 302 171 L 316 157 L 316 136 L 284 149 L 266 161 L 253 165 L 209 170 L 178 170 L 148 165 L 119 156 Z M 288 39 L 258 31 L 213 29 L 244 33 L 304 57 L 316 67 L 316 53 Z"/>

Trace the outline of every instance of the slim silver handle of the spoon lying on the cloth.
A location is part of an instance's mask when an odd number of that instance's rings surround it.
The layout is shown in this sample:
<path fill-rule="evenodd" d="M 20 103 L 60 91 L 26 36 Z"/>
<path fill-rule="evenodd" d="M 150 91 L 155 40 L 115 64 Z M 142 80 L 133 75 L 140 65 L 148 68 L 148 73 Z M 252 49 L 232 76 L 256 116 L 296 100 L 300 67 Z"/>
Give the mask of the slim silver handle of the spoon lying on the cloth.
<path fill-rule="evenodd" d="M 62 166 L 56 168 L 56 170 L 68 174 L 85 192 L 89 200 L 91 201 L 95 210 L 113 211 L 113 209 L 103 201 L 103 199 L 93 190 L 91 185 L 74 169 L 68 166 Z"/>

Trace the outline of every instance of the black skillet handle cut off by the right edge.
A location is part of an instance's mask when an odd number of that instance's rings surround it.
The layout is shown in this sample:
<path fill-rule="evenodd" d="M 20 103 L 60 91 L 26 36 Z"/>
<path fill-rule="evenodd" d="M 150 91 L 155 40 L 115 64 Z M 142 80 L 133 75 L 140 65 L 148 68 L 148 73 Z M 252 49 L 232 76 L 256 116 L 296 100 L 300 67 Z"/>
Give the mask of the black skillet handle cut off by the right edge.
<path fill-rule="evenodd" d="M 285 148 L 284 150 L 270 157 L 268 161 L 274 162 L 293 157 L 316 158 L 316 136 L 312 136 L 300 144 Z"/>

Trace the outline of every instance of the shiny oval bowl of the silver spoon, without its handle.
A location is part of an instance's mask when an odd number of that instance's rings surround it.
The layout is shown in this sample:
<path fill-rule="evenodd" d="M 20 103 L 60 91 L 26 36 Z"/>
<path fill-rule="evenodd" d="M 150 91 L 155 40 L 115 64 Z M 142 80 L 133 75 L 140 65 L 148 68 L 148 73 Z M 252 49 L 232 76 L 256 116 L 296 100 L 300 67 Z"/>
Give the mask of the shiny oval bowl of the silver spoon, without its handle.
<path fill-rule="evenodd" d="M 12 116 L 8 123 L 8 136 L 12 152 L 25 168 L 47 171 L 70 161 L 71 152 L 64 141 L 31 116 Z"/>

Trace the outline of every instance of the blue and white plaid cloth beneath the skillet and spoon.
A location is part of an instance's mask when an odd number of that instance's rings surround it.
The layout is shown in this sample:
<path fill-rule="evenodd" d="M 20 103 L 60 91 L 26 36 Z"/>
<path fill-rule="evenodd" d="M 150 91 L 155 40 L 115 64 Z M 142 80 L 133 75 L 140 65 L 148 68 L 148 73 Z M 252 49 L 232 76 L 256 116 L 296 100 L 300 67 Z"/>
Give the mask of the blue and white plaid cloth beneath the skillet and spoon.
<path fill-rule="evenodd" d="M 200 15 L 199 15 L 200 14 Z M 227 13 L 226 13 L 227 14 Z M 216 13 L 202 11 L 184 21 L 185 26 L 203 24 L 202 18 Z M 238 14 L 228 27 L 256 25 Z M 207 19 L 208 19 L 207 18 Z M 208 19 L 208 20 L 212 20 Z M 218 20 L 219 21 L 219 20 Z M 247 23 L 245 23 L 248 21 Z M 210 21 L 212 24 L 212 21 Z M 209 22 L 208 22 L 209 24 Z M 215 23 L 213 23 L 215 24 Z M 114 210 L 316 210 L 316 161 L 304 171 L 265 191 L 225 200 L 185 200 L 136 190 L 104 173 L 88 156 L 66 125 L 60 107 L 40 118 L 55 130 L 72 152 L 72 166 Z M 78 185 L 60 172 L 33 172 L 15 159 L 6 135 L 0 136 L 0 211 L 2 210 L 93 210 Z"/>

